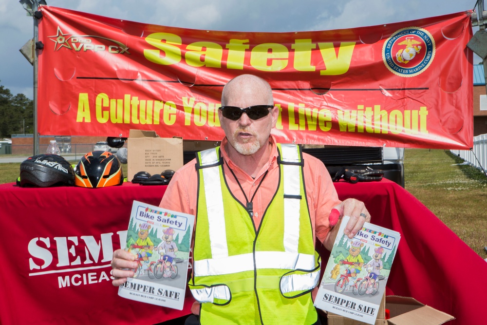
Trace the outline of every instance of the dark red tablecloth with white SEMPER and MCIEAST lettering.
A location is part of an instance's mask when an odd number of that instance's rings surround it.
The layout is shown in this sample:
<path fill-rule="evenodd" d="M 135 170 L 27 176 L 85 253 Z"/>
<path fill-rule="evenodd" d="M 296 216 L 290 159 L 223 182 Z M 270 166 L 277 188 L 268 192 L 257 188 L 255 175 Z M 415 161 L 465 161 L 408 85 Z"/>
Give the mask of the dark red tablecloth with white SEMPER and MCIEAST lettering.
<path fill-rule="evenodd" d="M 447 312 L 451 324 L 485 324 L 487 263 L 430 210 L 387 180 L 336 188 L 341 199 L 364 201 L 375 224 L 401 233 L 386 294 Z M 110 279 L 132 200 L 158 205 L 165 190 L 0 185 L 0 324 L 155 324 L 188 314 L 188 293 L 182 311 L 162 308 L 118 297 Z"/>

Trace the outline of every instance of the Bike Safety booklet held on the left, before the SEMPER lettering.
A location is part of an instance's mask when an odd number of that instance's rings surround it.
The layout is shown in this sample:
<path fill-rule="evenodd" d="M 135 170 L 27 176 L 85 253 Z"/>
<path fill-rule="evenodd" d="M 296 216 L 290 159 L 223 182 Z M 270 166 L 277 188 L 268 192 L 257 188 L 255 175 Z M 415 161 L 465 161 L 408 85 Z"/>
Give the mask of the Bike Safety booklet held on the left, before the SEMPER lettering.
<path fill-rule="evenodd" d="M 125 249 L 138 267 L 118 295 L 182 310 L 193 225 L 191 214 L 133 201 Z"/>

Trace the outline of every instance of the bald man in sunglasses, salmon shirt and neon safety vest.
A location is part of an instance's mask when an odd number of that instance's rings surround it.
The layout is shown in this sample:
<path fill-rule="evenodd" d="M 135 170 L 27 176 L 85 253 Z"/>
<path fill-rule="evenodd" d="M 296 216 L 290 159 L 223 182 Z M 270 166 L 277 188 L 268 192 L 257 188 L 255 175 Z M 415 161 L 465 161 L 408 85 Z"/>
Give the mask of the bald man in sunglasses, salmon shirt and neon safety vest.
<path fill-rule="evenodd" d="M 331 250 L 339 227 L 328 222 L 333 208 L 351 216 L 350 238 L 370 220 L 362 202 L 338 200 L 318 159 L 275 142 L 278 115 L 265 80 L 230 80 L 218 111 L 221 146 L 176 172 L 161 201 L 196 215 L 189 287 L 201 324 L 319 324 L 315 237 Z M 113 253 L 114 286 L 132 276 L 122 270 L 132 261 L 124 250 Z"/>

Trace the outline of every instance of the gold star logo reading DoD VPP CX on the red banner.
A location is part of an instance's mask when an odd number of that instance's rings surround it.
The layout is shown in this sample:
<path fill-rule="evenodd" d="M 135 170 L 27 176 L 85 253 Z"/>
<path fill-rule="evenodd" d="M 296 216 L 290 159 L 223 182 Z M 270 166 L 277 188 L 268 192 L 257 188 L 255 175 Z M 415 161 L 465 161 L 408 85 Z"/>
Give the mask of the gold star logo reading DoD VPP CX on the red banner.
<path fill-rule="evenodd" d="M 55 51 L 65 47 L 76 52 L 107 51 L 112 54 L 130 54 L 128 51 L 129 48 L 117 40 L 96 35 L 65 34 L 61 31 L 59 26 L 57 26 L 57 34 L 48 36 L 48 38 L 56 43 L 54 47 Z"/>

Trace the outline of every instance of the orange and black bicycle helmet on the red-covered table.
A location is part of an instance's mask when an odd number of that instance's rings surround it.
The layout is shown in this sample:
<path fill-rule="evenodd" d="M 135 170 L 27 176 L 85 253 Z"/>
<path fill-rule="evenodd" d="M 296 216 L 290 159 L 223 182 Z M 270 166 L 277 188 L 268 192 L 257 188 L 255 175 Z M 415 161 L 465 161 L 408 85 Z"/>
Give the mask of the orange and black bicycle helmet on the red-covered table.
<path fill-rule="evenodd" d="M 76 186 L 100 188 L 122 183 L 122 165 L 118 158 L 108 151 L 87 153 L 76 165 Z"/>

